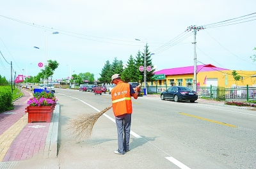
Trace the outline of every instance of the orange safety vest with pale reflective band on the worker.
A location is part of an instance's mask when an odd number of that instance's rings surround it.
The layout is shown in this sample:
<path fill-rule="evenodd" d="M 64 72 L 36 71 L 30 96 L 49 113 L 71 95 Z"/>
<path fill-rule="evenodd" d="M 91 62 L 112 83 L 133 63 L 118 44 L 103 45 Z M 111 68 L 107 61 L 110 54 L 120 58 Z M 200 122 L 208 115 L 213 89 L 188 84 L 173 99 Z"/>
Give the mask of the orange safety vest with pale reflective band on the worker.
<path fill-rule="evenodd" d="M 132 100 L 129 84 L 125 82 L 118 82 L 118 84 L 112 89 L 111 96 L 115 116 L 132 114 Z"/>

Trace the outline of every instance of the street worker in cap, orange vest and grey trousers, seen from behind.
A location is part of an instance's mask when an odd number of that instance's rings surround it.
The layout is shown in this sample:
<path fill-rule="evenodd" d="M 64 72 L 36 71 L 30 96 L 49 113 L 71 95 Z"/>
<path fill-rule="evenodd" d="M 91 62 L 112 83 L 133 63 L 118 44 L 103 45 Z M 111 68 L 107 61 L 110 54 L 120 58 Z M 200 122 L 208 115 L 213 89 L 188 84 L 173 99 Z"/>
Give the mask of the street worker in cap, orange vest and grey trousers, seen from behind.
<path fill-rule="evenodd" d="M 119 74 L 111 77 L 111 84 L 116 86 L 111 91 L 113 112 L 116 120 L 118 150 L 115 154 L 124 154 L 129 151 L 132 100 L 138 98 L 138 88 L 121 80 Z"/>

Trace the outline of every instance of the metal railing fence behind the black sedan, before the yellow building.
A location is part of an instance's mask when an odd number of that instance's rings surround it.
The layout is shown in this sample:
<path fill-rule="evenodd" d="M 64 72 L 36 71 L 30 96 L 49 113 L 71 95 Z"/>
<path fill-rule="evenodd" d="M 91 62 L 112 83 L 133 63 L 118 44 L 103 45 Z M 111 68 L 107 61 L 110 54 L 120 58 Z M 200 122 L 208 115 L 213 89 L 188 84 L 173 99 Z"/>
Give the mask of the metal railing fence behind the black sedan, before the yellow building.
<path fill-rule="evenodd" d="M 168 85 L 147 86 L 148 94 L 160 94 L 166 91 Z M 190 87 L 193 89 L 193 87 Z M 198 97 L 217 99 L 220 101 L 256 101 L 256 86 L 232 86 L 232 87 L 197 87 Z"/>

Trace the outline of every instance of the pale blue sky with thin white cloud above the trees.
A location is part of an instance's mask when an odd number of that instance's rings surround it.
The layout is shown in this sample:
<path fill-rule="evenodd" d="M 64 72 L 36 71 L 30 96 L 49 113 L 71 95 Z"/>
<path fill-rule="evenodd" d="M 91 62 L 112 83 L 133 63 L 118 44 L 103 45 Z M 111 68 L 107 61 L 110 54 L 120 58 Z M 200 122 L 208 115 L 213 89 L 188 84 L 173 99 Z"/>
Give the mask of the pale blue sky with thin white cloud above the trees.
<path fill-rule="evenodd" d="M 51 59 L 60 64 L 54 80 L 86 72 L 97 80 L 106 61 L 127 63 L 145 43 L 157 70 L 193 66 L 196 52 L 198 65 L 256 73 L 255 6 L 255 0 L 1 0 L 0 75 L 10 79 L 12 62 L 16 75 L 36 76 L 38 63 Z M 189 26 L 204 29 L 195 36 Z"/>

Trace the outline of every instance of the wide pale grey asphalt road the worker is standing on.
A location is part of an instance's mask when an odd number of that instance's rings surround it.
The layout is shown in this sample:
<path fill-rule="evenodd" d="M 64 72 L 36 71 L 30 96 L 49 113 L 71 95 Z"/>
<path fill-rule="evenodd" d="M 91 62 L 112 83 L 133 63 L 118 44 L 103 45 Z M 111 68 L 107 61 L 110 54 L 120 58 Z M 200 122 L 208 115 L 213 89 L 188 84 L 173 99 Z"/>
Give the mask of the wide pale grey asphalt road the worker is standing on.
<path fill-rule="evenodd" d="M 132 99 L 130 149 L 117 149 L 112 109 L 90 138 L 77 140 L 68 122 L 111 105 L 109 94 L 56 89 L 60 103 L 60 168 L 256 168 L 256 112 L 160 98 Z"/>

